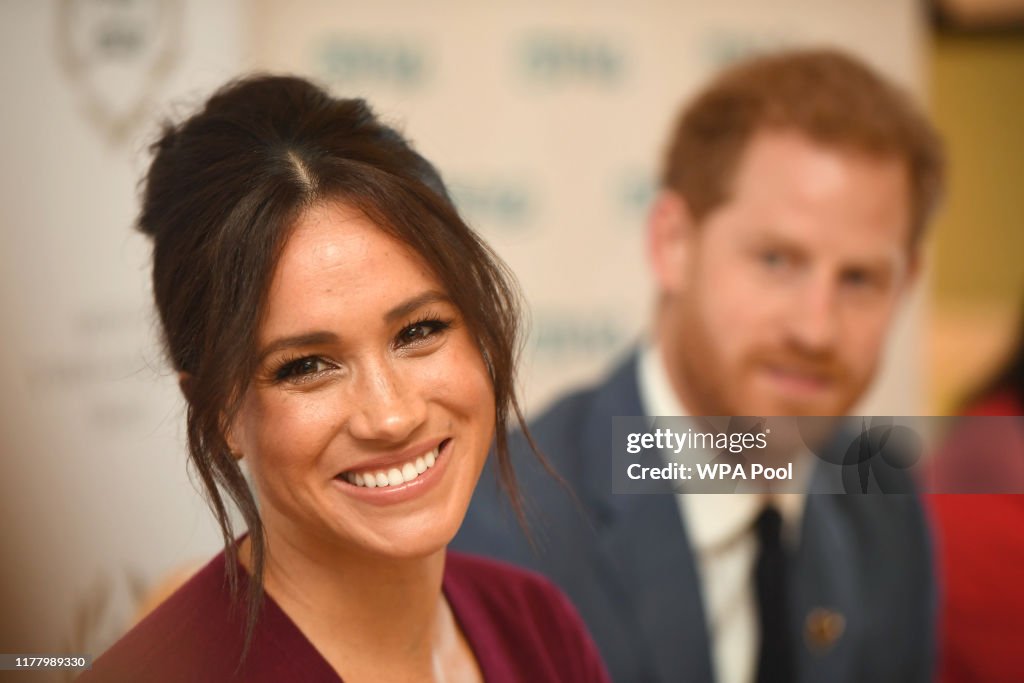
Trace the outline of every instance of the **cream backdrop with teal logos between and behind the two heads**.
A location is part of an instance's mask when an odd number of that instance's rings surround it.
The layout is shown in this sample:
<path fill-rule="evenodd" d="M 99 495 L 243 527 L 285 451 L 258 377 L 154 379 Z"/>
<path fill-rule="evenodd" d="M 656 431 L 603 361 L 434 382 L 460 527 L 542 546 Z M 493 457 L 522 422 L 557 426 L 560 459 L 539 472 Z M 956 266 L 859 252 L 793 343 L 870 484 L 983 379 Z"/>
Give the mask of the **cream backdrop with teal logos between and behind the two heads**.
<path fill-rule="evenodd" d="M 523 388 L 540 407 L 607 366 L 647 321 L 643 221 L 688 94 L 737 56 L 806 43 L 845 46 L 916 88 L 916 4 L 264 0 L 250 52 L 262 69 L 367 97 L 438 165 L 523 285 L 534 316 Z M 870 410 L 915 410 L 918 380 L 904 371 Z"/>

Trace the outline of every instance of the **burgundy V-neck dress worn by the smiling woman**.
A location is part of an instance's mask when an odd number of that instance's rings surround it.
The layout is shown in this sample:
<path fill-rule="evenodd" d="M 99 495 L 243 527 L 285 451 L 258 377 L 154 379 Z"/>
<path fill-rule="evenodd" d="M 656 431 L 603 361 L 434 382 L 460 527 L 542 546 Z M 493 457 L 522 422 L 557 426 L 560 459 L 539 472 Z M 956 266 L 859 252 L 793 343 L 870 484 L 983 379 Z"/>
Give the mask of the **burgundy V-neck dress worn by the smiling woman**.
<path fill-rule="evenodd" d="M 546 579 L 450 552 L 443 591 L 488 683 L 609 680 L 580 616 Z M 236 671 L 245 610 L 231 606 L 221 553 L 78 680 L 341 681 L 268 595 L 250 653 Z"/>

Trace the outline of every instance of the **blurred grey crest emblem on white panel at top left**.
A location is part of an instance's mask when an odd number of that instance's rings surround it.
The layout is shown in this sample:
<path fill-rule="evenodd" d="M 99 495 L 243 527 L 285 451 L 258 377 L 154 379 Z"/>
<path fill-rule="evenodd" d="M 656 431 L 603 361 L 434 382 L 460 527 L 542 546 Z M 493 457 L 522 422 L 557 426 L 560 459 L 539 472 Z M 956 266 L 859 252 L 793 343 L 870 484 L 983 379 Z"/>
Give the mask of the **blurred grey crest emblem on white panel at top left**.
<path fill-rule="evenodd" d="M 145 120 L 181 48 L 182 0 L 60 0 L 56 53 L 89 123 L 111 144 Z"/>

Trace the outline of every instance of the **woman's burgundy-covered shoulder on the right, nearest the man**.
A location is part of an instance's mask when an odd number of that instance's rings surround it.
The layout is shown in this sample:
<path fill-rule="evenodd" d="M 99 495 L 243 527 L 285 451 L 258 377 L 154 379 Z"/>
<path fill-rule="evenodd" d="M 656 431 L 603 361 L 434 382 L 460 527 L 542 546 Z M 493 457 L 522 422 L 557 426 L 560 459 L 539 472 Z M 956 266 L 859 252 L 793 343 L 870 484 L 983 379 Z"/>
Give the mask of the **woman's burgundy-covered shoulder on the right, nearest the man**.
<path fill-rule="evenodd" d="M 608 680 L 583 620 L 545 577 L 449 552 L 444 593 L 488 681 Z"/>

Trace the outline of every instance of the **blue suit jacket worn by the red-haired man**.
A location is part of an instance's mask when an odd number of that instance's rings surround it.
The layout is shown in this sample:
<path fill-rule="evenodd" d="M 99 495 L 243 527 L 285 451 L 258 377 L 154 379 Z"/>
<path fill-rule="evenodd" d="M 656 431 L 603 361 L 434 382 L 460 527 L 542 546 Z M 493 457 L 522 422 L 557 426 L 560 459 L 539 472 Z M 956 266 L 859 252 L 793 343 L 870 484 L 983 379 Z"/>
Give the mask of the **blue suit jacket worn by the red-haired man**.
<path fill-rule="evenodd" d="M 699 577 L 675 499 L 611 494 L 616 415 L 643 415 L 635 355 L 530 425 L 574 495 L 513 439 L 532 542 L 499 489 L 492 458 L 453 547 L 550 577 L 575 603 L 613 680 L 712 683 Z M 800 683 L 931 680 L 935 582 L 915 496 L 808 496 L 791 566 L 786 628 L 800 647 Z M 807 636 L 815 608 L 845 621 L 826 648 Z"/>

